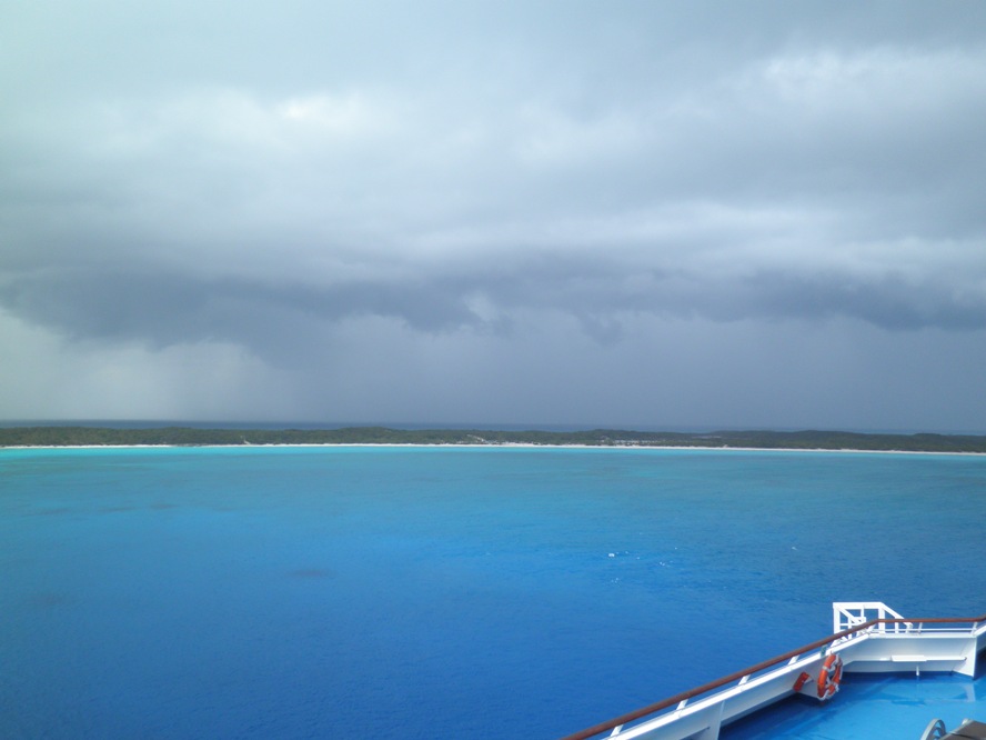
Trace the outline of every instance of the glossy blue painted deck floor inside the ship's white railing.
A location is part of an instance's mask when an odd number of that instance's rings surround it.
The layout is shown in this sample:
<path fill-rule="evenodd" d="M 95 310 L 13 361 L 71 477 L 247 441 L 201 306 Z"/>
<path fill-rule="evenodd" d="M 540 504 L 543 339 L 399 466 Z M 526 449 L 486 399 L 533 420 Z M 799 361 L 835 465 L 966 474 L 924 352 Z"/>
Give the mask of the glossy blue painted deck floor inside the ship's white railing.
<path fill-rule="evenodd" d="M 986 718 L 986 673 L 980 669 L 975 680 L 955 674 L 846 673 L 842 690 L 828 703 L 788 699 L 723 728 L 721 738 L 919 740 L 935 718 L 945 720 L 949 730 L 965 718 Z"/>

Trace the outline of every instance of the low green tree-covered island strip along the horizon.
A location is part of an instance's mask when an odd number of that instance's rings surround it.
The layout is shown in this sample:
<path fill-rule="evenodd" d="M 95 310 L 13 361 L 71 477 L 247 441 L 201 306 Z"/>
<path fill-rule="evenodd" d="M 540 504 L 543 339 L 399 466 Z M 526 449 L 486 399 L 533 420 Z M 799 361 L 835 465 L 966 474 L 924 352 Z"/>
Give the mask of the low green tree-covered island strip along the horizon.
<path fill-rule="evenodd" d="M 540 444 L 587 447 L 710 447 L 794 450 L 984 452 L 986 437 L 973 434 L 876 434 L 843 431 L 716 431 L 705 433 L 592 429 L 500 431 L 490 429 L 199 429 L 160 427 L 0 428 L 0 447 L 250 444 Z"/>

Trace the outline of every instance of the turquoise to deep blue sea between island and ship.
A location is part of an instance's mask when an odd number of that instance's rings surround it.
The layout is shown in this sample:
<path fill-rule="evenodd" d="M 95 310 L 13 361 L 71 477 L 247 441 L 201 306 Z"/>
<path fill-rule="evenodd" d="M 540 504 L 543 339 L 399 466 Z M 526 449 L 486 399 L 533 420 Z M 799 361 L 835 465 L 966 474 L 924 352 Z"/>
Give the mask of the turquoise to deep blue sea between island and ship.
<path fill-rule="evenodd" d="M 986 458 L 0 450 L 0 737 L 555 738 L 986 611 Z"/>

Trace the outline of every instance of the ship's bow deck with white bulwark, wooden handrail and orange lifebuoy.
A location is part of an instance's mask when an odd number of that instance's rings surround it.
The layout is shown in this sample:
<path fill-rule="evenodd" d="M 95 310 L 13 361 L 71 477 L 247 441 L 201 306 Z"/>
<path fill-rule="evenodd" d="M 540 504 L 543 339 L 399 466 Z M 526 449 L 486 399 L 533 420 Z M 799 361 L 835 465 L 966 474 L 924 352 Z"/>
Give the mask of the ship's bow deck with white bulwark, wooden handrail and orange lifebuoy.
<path fill-rule="evenodd" d="M 831 637 L 565 740 L 922 740 L 943 737 L 935 720 L 952 731 L 986 719 L 986 614 L 908 620 L 883 602 L 832 606 Z"/>

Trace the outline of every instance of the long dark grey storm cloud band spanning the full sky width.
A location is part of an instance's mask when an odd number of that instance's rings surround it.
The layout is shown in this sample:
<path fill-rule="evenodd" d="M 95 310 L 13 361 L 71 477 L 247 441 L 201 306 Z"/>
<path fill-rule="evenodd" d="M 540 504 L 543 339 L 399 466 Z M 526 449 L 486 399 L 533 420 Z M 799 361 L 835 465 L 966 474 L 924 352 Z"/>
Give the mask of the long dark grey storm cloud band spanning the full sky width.
<path fill-rule="evenodd" d="M 596 258 L 537 258 L 509 267 L 471 266 L 464 274 L 429 274 L 395 282 L 348 281 L 318 287 L 256 280 L 198 279 L 181 273 L 50 270 L 10 281 L 0 306 L 71 337 L 139 340 L 155 346 L 231 340 L 276 357 L 301 318 L 339 321 L 359 316 L 399 319 L 420 332 L 460 328 L 509 331 L 515 309 L 572 313 L 597 339 L 616 339 L 627 313 L 823 320 L 859 318 L 892 330 L 986 328 L 983 292 L 957 292 L 958 276 L 915 284 L 902 276 L 863 279 L 844 273 L 758 269 L 710 277 L 681 268 L 640 269 Z M 485 316 L 471 303 L 485 300 Z M 266 328 L 269 337 L 258 331 Z M 279 348 L 270 352 L 270 347 Z"/>

